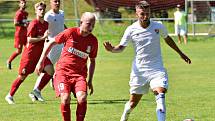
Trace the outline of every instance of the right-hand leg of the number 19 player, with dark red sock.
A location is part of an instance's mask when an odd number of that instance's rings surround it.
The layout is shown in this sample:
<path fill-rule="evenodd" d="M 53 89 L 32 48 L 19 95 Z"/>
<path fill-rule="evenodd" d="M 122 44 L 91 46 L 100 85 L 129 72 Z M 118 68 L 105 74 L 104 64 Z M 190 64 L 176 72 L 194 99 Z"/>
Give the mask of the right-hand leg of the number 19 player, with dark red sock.
<path fill-rule="evenodd" d="M 77 98 L 76 121 L 84 121 L 87 111 L 87 82 L 83 76 L 75 77 L 74 91 Z"/>

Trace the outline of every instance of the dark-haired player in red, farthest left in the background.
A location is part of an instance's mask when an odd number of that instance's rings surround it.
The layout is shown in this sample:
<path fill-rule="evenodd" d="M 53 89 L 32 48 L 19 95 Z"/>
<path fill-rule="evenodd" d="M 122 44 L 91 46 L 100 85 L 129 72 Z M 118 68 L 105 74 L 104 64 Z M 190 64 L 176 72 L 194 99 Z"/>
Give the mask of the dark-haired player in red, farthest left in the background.
<path fill-rule="evenodd" d="M 15 35 L 14 35 L 14 47 L 16 51 L 12 53 L 12 55 L 7 60 L 7 68 L 12 69 L 11 63 L 12 61 L 22 53 L 22 47 L 27 42 L 27 25 L 28 25 L 28 12 L 25 11 L 26 1 L 19 1 L 19 10 L 16 11 L 16 15 L 14 17 L 14 25 L 15 25 Z"/>

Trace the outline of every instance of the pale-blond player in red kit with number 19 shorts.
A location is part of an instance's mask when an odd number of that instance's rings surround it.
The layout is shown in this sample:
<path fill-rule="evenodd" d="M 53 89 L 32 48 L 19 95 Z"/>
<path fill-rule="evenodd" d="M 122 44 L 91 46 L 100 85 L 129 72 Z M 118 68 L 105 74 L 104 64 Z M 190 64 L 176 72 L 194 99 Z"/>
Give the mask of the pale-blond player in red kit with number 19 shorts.
<path fill-rule="evenodd" d="M 95 24 L 95 16 L 85 12 L 81 17 L 80 27 L 69 28 L 61 32 L 44 47 L 36 66 L 39 74 L 43 70 L 44 60 L 52 46 L 64 43 L 57 62 L 54 76 L 56 95 L 60 96 L 60 109 L 64 121 L 71 121 L 70 93 L 77 98 L 76 121 L 84 121 L 87 110 L 87 86 L 93 94 L 92 79 L 98 51 L 97 38 L 91 34 Z M 87 60 L 89 58 L 89 77 L 87 78 Z"/>

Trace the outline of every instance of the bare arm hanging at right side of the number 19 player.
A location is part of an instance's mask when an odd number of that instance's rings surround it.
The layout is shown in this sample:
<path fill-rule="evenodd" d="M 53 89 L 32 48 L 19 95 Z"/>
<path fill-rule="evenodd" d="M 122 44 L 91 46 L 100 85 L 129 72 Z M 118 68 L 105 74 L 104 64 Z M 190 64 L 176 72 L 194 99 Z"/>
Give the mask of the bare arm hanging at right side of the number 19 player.
<path fill-rule="evenodd" d="M 93 75 L 96 67 L 96 59 L 90 58 L 90 65 L 89 65 L 89 77 L 88 77 L 88 88 L 90 89 L 90 95 L 93 94 Z"/>

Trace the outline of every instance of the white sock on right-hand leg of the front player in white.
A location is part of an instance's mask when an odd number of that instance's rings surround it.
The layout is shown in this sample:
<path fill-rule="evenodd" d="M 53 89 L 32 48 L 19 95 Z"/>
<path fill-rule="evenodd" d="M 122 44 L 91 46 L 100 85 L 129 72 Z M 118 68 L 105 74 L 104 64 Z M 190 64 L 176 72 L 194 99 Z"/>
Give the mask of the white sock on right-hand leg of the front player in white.
<path fill-rule="evenodd" d="M 155 96 L 157 108 L 157 119 L 158 121 L 165 121 L 166 119 L 166 106 L 165 106 L 165 93 L 159 93 Z"/>

